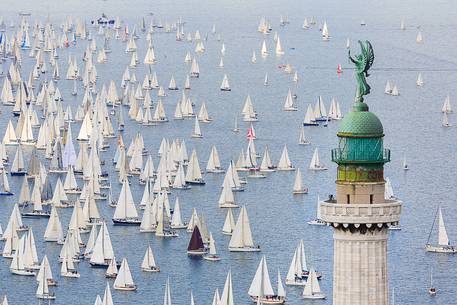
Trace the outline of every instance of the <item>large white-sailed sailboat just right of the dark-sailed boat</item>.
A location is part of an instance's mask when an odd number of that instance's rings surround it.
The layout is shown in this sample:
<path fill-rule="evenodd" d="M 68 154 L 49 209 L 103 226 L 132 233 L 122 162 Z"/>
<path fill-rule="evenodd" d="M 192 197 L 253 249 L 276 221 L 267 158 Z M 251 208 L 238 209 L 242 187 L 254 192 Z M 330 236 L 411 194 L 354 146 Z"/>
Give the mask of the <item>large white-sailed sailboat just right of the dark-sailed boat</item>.
<path fill-rule="evenodd" d="M 238 220 L 233 229 L 232 238 L 229 242 L 231 252 L 258 252 L 260 246 L 255 246 L 252 239 L 251 225 L 249 224 L 248 212 L 243 206 Z"/>

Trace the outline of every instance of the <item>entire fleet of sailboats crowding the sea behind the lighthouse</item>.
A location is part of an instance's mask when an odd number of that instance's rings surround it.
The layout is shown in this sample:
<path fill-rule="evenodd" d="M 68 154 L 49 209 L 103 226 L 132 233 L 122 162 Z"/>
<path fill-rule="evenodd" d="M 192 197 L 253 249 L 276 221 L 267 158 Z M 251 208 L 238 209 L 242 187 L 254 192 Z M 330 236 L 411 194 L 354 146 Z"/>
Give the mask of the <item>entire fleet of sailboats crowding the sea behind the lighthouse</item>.
<path fill-rule="evenodd" d="M 277 164 L 271 159 L 269 146 L 264 147 L 263 154 L 257 152 L 254 124 L 259 120 L 259 115 L 250 95 L 247 95 L 239 115 L 235 116 L 232 129 L 233 132 L 240 131 L 238 118 L 247 122 L 246 149 L 241 150 L 238 159 L 230 161 L 226 167 L 221 164 L 214 145 L 211 146 L 208 161 L 202 169 L 196 149 L 193 149 L 189 156 L 184 139 L 163 138 L 157 152 L 157 166 L 153 160 L 155 152 L 145 145 L 143 137 L 147 136 L 146 134 L 138 132 L 128 139 L 129 144 L 125 142 L 122 132 L 130 124 L 147 127 L 169 121 L 163 100 L 167 91 L 176 90 L 181 90 L 181 97 L 177 101 L 173 119 L 193 120 L 194 128 L 189 136 L 204 137 L 201 124 L 209 124 L 213 118 L 204 102 L 198 112 L 194 110 L 196 105 L 189 92 L 192 82 L 198 81 L 200 77 L 199 56 L 206 51 L 208 35 L 220 42 L 219 68 L 224 68 L 227 49 L 216 26 L 203 36 L 198 30 L 194 34 L 186 33 L 185 23 L 181 19 L 165 24 L 152 19 L 147 25 L 143 18 L 130 28 L 119 17 L 109 19 L 103 16 L 91 24 L 71 17 L 65 18 L 60 24 L 53 24 L 49 20 L 31 23 L 27 17 L 29 16 L 23 15 L 17 25 L 6 25 L 3 19 L 0 20 L 0 76 L 3 77 L 0 103 L 3 105 L 4 114 L 12 114 L 0 143 L 0 195 L 14 195 L 8 175 L 22 177 L 20 192 L 17 198 L 14 197 L 8 224 L 4 231 L 0 226 L 0 236 L 4 241 L 1 255 L 11 259 L 10 272 L 21 276 L 35 276 L 37 298 L 55 299 L 56 295 L 50 287 L 58 283 L 47 256 L 39 259 L 33 228 L 27 226 L 23 218 L 43 218 L 43 221 L 47 221 L 42 240 L 61 245 L 58 257 L 61 277 L 79 278 L 81 275 L 78 265 L 87 262 L 91 267 L 106 269 L 106 278 L 115 279 L 112 285 L 114 289 L 132 291 L 138 286 L 128 259 L 116 257 L 109 233 L 110 223 L 102 217 L 100 205 L 114 209 L 112 225 L 137 226 L 139 233 L 149 232 L 159 238 L 174 238 L 181 232 L 188 232 L 190 238 L 187 254 L 216 262 L 221 260 L 221 257 L 217 252 L 213 232 L 208 230 L 205 214 L 198 213 L 194 208 L 190 219 L 184 221 L 179 197 L 175 197 L 173 208 L 170 203 L 169 195 L 174 190 L 204 185 L 205 175 L 224 175 L 217 206 L 226 210 L 221 233 L 230 236 L 228 249 L 233 252 L 261 251 L 252 236 L 248 209 L 236 200 L 236 193 L 245 190 L 248 179 L 267 178 L 269 173 L 275 171 L 295 171 L 291 193 L 297 196 L 308 193 L 309 190 L 303 183 L 302 171 L 294 166 L 286 145 L 283 146 Z M 308 30 L 316 23 L 315 18 L 306 18 L 302 28 Z M 280 26 L 288 24 L 287 17 L 281 17 Z M 158 62 L 154 44 L 156 31 L 175 33 L 175 41 L 187 41 L 195 47 L 194 52 L 183 54 L 189 71 L 183 72 L 186 77 L 182 88 L 173 75 L 168 87 L 162 86 L 157 74 L 153 72 L 152 67 Z M 257 54 L 264 59 L 270 55 L 267 44 L 270 39 L 267 38 L 273 27 L 267 18 L 261 19 L 258 31 L 263 34 L 260 40 L 261 48 L 260 52 L 252 52 L 252 63 L 257 62 Z M 330 40 L 325 21 L 320 28 L 320 35 L 324 41 Z M 273 36 L 272 53 L 281 56 L 285 50 L 280 37 L 277 32 Z M 145 50 L 140 50 L 137 46 L 140 39 L 146 42 Z M 101 80 L 97 66 L 109 61 L 109 54 L 113 52 L 113 40 L 118 41 L 116 45 L 125 47 L 124 54 L 130 58 L 130 63 L 119 79 Z M 418 42 L 422 42 L 419 35 Z M 82 54 L 75 55 L 76 49 L 71 49 L 73 55 L 70 55 L 66 50 L 76 44 L 85 45 Z M 349 46 L 349 40 L 347 44 Z M 142 61 L 138 55 L 140 51 L 145 52 Z M 68 54 L 68 59 L 62 59 L 59 53 Z M 26 62 L 33 65 L 29 75 L 24 74 L 23 66 Z M 7 71 L 3 71 L 3 66 L 7 64 Z M 136 71 L 141 64 L 148 69 L 143 76 Z M 64 65 L 66 73 L 61 75 L 60 67 Z M 292 86 L 297 84 L 298 71 L 291 64 L 284 64 L 281 71 L 290 75 Z M 341 66 L 338 72 L 342 72 Z M 71 95 L 78 96 L 78 105 L 70 105 L 66 101 L 68 97 L 59 89 L 63 81 L 71 83 Z M 264 85 L 269 85 L 268 74 L 265 74 Z M 417 85 L 423 85 L 421 74 Z M 224 73 L 220 90 L 231 91 L 227 72 Z M 399 95 L 397 85 L 388 82 L 386 93 Z M 327 126 L 332 120 L 342 119 L 341 106 L 336 98 L 331 99 L 328 109 L 327 111 L 321 96 L 317 98 L 314 107 L 311 104 L 307 106 L 304 119 L 300 122 L 297 144 L 310 144 L 305 136 L 307 126 Z M 282 110 L 298 110 L 295 90 L 287 90 Z M 443 105 L 444 126 L 450 126 L 447 114 L 451 111 L 450 99 L 447 98 Z M 80 127 L 74 137 L 73 129 L 77 128 L 76 126 Z M 116 145 L 114 156 L 103 156 L 113 144 Z M 14 157 L 11 156 L 12 151 Z M 26 160 L 25 156 L 30 157 Z M 113 171 L 107 170 L 110 166 Z M 408 169 L 406 161 L 403 167 Z M 309 170 L 326 169 L 316 147 Z M 109 174 L 110 172 L 117 173 L 117 177 Z M 143 186 L 140 202 L 134 200 L 130 187 L 132 183 Z M 114 184 L 121 187 L 117 198 L 112 192 Z M 393 196 L 390 180 L 386 179 L 385 197 L 390 199 Z M 319 201 L 317 196 L 317 215 L 308 222 L 310 225 L 325 225 L 320 219 Z M 59 210 L 62 208 L 72 209 L 68 224 L 63 224 L 60 220 Z M 237 208 L 240 212 L 235 221 L 233 211 Z M 139 211 L 142 211 L 141 216 Z M 427 244 L 427 251 L 457 252 L 449 246 L 441 211 L 439 230 L 439 246 Z M 86 234 L 87 239 L 82 237 Z M 160 272 L 151 244 L 145 245 L 144 250 L 141 270 Z M 315 266 L 308 267 L 304 242 L 301 240 L 293 254 L 285 285 L 302 286 L 303 298 L 322 299 L 325 294 L 319 285 L 321 277 Z M 171 304 L 170 285 L 168 279 L 164 292 L 166 305 Z M 253 275 L 248 294 L 256 303 L 282 304 L 286 301 L 281 274 L 278 270 L 275 291 L 265 256 L 262 256 Z M 7 304 L 6 296 L 2 304 Z M 109 282 L 103 297 L 96 296 L 95 304 L 113 304 Z M 194 304 L 192 294 L 191 304 Z M 222 294 L 215 291 L 213 304 L 233 304 L 230 271 Z"/>

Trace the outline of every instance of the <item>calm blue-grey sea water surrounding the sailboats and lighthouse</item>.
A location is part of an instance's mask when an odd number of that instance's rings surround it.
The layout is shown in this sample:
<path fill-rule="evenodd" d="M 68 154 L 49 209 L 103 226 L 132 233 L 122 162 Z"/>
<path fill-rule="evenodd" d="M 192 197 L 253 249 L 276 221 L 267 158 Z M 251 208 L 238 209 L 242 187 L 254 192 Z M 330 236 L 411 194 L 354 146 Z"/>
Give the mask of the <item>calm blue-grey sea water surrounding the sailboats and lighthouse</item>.
<path fill-rule="evenodd" d="M 211 124 L 202 124 L 204 138 L 190 138 L 193 120 L 173 121 L 150 127 L 139 127 L 127 120 L 124 140 L 130 139 L 136 132 L 142 131 L 146 147 L 155 155 L 163 137 L 183 138 L 190 154 L 197 149 L 200 164 L 205 166 L 211 145 L 216 145 L 226 167 L 229 160 L 236 159 L 239 151 L 245 149 L 246 124 L 241 124 L 241 132 L 231 132 L 235 115 L 241 112 L 244 99 L 250 94 L 254 107 L 259 113 L 259 122 L 255 124 L 258 135 L 257 150 L 263 151 L 268 144 L 273 161 L 277 163 L 284 144 L 287 144 L 294 165 L 301 167 L 305 183 L 310 193 L 304 196 L 292 196 L 291 189 L 294 173 L 277 172 L 267 179 L 250 180 L 247 190 L 236 194 L 237 201 L 248 208 L 253 237 L 262 247 L 260 254 L 228 252 L 227 236 L 221 228 L 225 210 L 217 207 L 223 175 L 205 175 L 207 184 L 193 187 L 189 191 L 176 192 L 170 197 L 173 203 L 179 195 L 183 217 L 188 220 L 192 208 L 206 215 L 209 230 L 213 232 L 222 261 L 211 263 L 190 259 L 186 247 L 190 235 L 180 232 L 173 240 L 158 239 L 151 234 L 139 233 L 136 227 L 113 227 L 109 225 L 117 258 L 127 257 L 138 284 L 137 292 L 118 292 L 112 290 L 115 304 L 157 304 L 163 300 L 165 280 L 170 277 L 172 299 L 176 304 L 190 302 L 192 289 L 196 304 L 210 304 L 216 288 L 223 288 L 229 269 L 232 270 L 236 304 L 249 304 L 247 290 L 262 254 L 266 255 L 272 280 L 276 281 L 279 268 L 283 279 L 287 272 L 293 250 L 299 239 L 305 240 L 310 264 L 323 273 L 321 288 L 327 293 L 325 301 L 303 301 L 300 299 L 301 288 L 287 287 L 288 304 L 331 304 L 332 296 L 332 231 L 326 227 L 313 227 L 306 221 L 316 213 L 317 196 L 325 197 L 334 192 L 335 166 L 330 162 L 330 149 L 337 145 L 336 131 L 338 123 L 332 122 L 328 128 L 309 128 L 306 130 L 312 145 L 297 145 L 298 128 L 306 107 L 322 95 L 328 105 L 331 97 L 336 97 L 342 110 L 350 109 L 355 91 L 355 80 L 351 70 L 345 70 L 341 77 L 336 74 L 336 67 L 341 63 L 348 67 L 346 59 L 346 38 L 352 41 L 354 52 L 358 52 L 355 41 L 369 39 L 375 50 L 375 64 L 369 83 L 372 94 L 367 103 L 384 123 L 386 147 L 392 150 L 392 162 L 386 166 L 385 174 L 390 177 L 396 195 L 404 201 L 402 231 L 392 232 L 389 242 L 389 285 L 396 288 L 398 304 L 454 304 L 457 284 L 457 257 L 428 254 L 424 245 L 428 237 L 433 215 L 441 204 L 447 222 L 451 241 L 457 239 L 457 225 L 454 215 L 456 158 L 454 140 L 456 128 L 441 127 L 441 105 L 447 94 L 455 97 L 457 81 L 457 34 L 455 4 L 453 1 L 383 1 L 367 3 L 351 1 L 14 1 L 1 0 L 2 15 L 9 21 L 18 22 L 17 12 L 29 10 L 31 19 L 43 19 L 49 14 L 55 24 L 60 24 L 64 16 L 80 16 L 90 20 L 102 12 L 109 16 L 121 16 L 132 28 L 142 16 L 154 12 L 163 22 L 174 21 L 182 16 L 186 21 L 185 32 L 200 30 L 202 35 L 209 33 L 215 23 L 221 34 L 227 51 L 224 69 L 218 68 L 221 42 L 209 35 L 205 42 L 206 52 L 198 55 L 201 77 L 192 80 L 190 95 L 195 98 L 198 111 L 202 101 L 206 103 Z M 90 13 L 88 13 L 90 11 Z M 280 15 L 287 15 L 290 25 L 280 28 Z M 257 33 L 261 16 L 267 16 L 275 31 L 278 31 L 286 54 L 281 58 L 274 55 L 262 60 L 259 56 L 262 35 Z M 321 40 L 318 26 L 303 31 L 304 17 L 315 16 L 318 25 L 327 20 L 331 35 L 330 42 Z M 367 22 L 366 27 L 359 25 L 360 20 Z M 400 21 L 405 18 L 407 30 L 401 31 Z M 147 19 L 148 20 L 148 19 Z M 424 44 L 415 42 L 417 26 L 421 26 Z M 156 33 L 153 36 L 158 63 L 153 67 L 159 83 L 166 87 L 171 75 L 182 86 L 189 66 L 184 63 L 187 51 L 193 51 L 194 44 L 177 43 L 174 33 Z M 273 35 L 266 37 L 270 54 L 273 54 Z M 98 46 L 102 41 L 97 37 Z M 81 53 L 87 42 L 79 41 L 76 47 L 60 51 L 59 67 L 66 72 L 68 54 Z M 137 41 L 140 61 L 146 52 L 144 37 Z M 125 45 L 112 41 L 113 53 L 108 55 L 108 63 L 97 65 L 100 76 L 97 87 L 109 84 L 111 79 L 119 84 L 130 56 L 124 53 Z M 258 56 L 256 64 L 250 62 L 252 51 Z M 28 52 L 23 53 L 23 76 L 28 77 L 32 63 Z M 297 88 L 299 111 L 287 113 L 282 105 L 287 90 L 293 86 L 291 77 L 284 74 L 278 65 L 290 63 L 299 73 Z M 4 64 L 4 70 L 9 63 Z M 80 68 L 81 68 L 80 64 Z M 143 80 L 145 68 L 136 69 L 139 80 Z M 263 86 L 265 72 L 268 72 L 270 86 Z M 425 86 L 415 84 L 417 74 L 422 72 Z M 219 85 L 224 73 L 227 73 L 232 91 L 222 93 Z M 48 76 L 49 78 L 49 76 Z M 398 84 L 401 95 L 386 96 L 383 93 L 387 80 Z M 72 97 L 72 82 L 64 79 L 58 82 L 64 97 L 64 105 L 70 104 L 73 111 L 82 100 L 82 95 Z M 81 92 L 81 88 L 79 88 Z M 156 94 L 156 93 L 154 93 Z M 163 98 L 169 118 L 172 118 L 180 92 L 167 92 Z M 153 99 L 156 100 L 155 95 Z M 453 99 L 452 102 L 455 100 Z M 455 104 L 455 103 L 454 103 Z M 0 106 L 2 116 L 0 128 L 5 129 L 11 108 Z M 126 112 L 124 112 L 126 114 Z M 450 122 L 457 124 L 455 115 Z M 80 123 L 74 124 L 73 134 L 77 136 Z M 37 132 L 37 130 L 35 131 Z M 3 135 L 1 135 L 3 136 Z M 109 161 L 115 151 L 115 139 L 111 139 L 111 148 L 102 154 Z M 329 166 L 326 172 L 313 173 L 307 170 L 315 147 L 319 148 L 321 160 Z M 10 157 L 14 148 L 9 149 Z M 403 155 L 406 154 L 411 170 L 405 173 L 401 168 Z M 11 159 L 12 160 L 12 159 Z M 105 169 L 112 171 L 110 162 Z M 114 173 L 113 173 L 114 174 Z M 53 178 L 56 176 L 54 175 Z M 117 176 L 112 176 L 117 181 Z M 141 199 L 143 188 L 133 180 L 132 190 L 137 202 Z M 11 177 L 10 184 L 16 194 L 19 193 L 20 178 Z M 113 183 L 113 193 L 117 197 L 118 184 Z M 0 222 L 5 228 L 8 217 L 18 196 L 0 198 Z M 114 210 L 102 203 L 99 209 L 106 219 L 111 219 Z M 68 224 L 71 209 L 59 211 L 61 221 Z M 235 214 L 236 215 L 236 214 Z M 236 217 L 236 216 L 235 216 Z M 44 254 L 51 261 L 54 276 L 59 286 L 53 291 L 57 295 L 55 304 L 93 304 L 97 294 L 103 294 L 106 285 L 104 270 L 92 269 L 87 262 L 78 266 L 80 279 L 65 279 L 58 276 L 60 265 L 57 256 L 60 246 L 42 242 L 46 220 L 25 220 L 32 226 L 37 241 L 40 259 Z M 87 237 L 85 237 L 87 238 Z M 159 274 L 141 272 L 140 263 L 147 243 L 151 243 L 156 260 L 161 268 Z M 0 262 L 0 294 L 7 294 L 10 304 L 36 304 L 36 282 L 34 278 L 13 276 L 9 272 L 10 260 Z M 434 268 L 435 285 L 438 295 L 432 299 L 427 294 L 429 267 Z"/>

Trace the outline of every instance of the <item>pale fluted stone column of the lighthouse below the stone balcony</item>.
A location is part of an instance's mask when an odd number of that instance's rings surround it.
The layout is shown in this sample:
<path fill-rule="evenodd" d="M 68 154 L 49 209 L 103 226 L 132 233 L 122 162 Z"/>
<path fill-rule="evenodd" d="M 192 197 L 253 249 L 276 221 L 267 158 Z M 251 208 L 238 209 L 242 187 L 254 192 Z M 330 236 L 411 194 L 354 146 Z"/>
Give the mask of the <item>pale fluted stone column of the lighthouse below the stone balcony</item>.
<path fill-rule="evenodd" d="M 333 305 L 388 305 L 386 226 L 340 225 L 333 239 Z"/>

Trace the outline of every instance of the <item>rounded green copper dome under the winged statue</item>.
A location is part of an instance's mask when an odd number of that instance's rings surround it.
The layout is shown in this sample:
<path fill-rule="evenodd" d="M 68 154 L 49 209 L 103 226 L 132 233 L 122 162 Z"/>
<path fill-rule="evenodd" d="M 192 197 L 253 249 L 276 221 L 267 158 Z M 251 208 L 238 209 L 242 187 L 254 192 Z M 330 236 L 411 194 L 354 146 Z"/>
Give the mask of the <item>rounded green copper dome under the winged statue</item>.
<path fill-rule="evenodd" d="M 357 102 L 340 123 L 340 137 L 382 137 L 384 128 L 378 117 L 368 110 L 368 105 Z"/>

